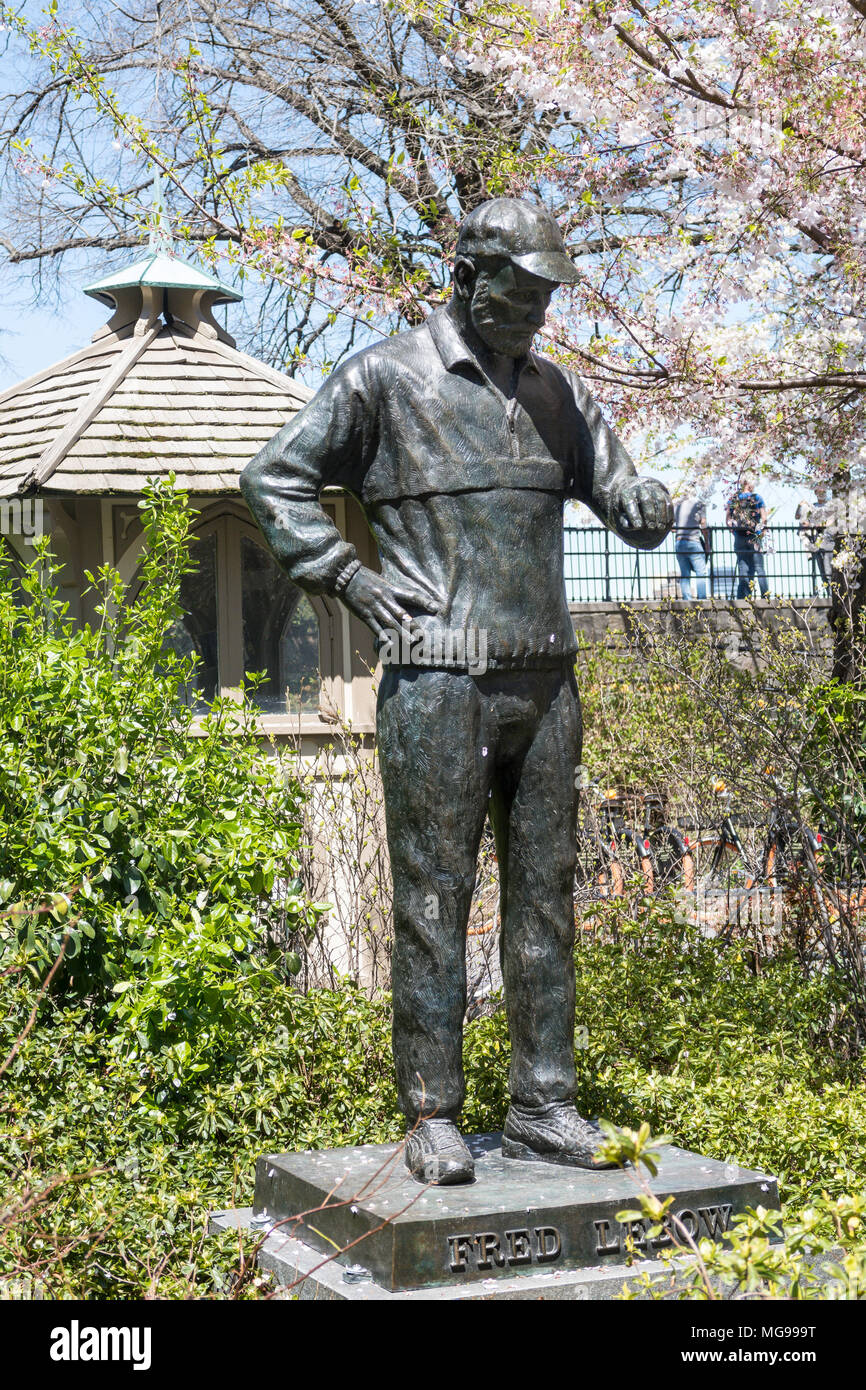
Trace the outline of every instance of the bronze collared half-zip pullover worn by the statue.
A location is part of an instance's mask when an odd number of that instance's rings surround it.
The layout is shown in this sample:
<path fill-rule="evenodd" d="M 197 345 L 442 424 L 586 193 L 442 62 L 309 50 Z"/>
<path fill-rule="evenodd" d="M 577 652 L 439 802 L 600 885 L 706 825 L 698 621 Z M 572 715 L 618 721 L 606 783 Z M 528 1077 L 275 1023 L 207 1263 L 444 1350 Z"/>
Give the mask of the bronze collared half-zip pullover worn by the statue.
<path fill-rule="evenodd" d="M 410 578 L 439 603 L 417 614 L 413 660 L 466 667 L 463 634 L 488 669 L 509 669 L 574 653 L 563 505 L 585 502 L 617 530 L 619 489 L 634 477 L 575 375 L 531 353 L 506 399 L 439 309 L 339 367 L 240 486 L 289 577 L 311 592 L 334 592 L 354 559 L 320 492 L 354 493 L 384 577 Z"/>

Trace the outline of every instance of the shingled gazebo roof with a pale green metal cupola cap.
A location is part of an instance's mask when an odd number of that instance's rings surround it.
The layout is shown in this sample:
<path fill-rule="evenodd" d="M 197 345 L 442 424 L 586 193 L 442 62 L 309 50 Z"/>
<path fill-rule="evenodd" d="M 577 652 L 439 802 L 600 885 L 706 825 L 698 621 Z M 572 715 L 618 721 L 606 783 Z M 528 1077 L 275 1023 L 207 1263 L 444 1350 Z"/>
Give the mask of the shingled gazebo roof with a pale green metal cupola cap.
<path fill-rule="evenodd" d="M 0 496 L 138 493 L 170 471 L 189 492 L 238 491 L 311 395 L 215 322 L 240 296 L 156 250 L 86 293 L 114 306 L 93 342 L 0 395 Z"/>

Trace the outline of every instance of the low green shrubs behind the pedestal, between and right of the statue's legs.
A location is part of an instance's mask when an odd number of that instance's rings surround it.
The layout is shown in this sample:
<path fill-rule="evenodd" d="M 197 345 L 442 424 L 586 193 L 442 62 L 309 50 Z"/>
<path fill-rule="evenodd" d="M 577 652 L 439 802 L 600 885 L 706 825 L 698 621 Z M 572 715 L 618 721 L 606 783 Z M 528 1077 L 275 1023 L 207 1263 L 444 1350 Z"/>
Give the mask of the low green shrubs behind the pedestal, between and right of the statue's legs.
<path fill-rule="evenodd" d="M 605 903 L 599 920 L 616 910 Z M 617 935 L 578 942 L 578 1109 L 648 1120 L 685 1148 L 760 1168 L 788 1202 L 866 1186 L 865 1068 L 835 1047 L 844 981 L 803 979 L 794 956 L 755 976 L 673 901 L 645 903 Z M 471 1026 L 468 1129 L 502 1125 L 507 1055 L 502 1015 Z"/>

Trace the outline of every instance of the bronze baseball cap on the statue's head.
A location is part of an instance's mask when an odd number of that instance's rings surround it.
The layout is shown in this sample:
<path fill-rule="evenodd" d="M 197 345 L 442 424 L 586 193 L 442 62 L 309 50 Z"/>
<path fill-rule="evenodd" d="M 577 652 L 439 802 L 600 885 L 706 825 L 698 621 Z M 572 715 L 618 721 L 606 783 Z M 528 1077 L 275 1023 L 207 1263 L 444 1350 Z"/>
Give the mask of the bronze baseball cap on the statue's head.
<path fill-rule="evenodd" d="M 521 197 L 493 197 L 467 213 L 455 256 L 503 256 L 555 285 L 574 285 L 578 279 L 550 213 Z"/>

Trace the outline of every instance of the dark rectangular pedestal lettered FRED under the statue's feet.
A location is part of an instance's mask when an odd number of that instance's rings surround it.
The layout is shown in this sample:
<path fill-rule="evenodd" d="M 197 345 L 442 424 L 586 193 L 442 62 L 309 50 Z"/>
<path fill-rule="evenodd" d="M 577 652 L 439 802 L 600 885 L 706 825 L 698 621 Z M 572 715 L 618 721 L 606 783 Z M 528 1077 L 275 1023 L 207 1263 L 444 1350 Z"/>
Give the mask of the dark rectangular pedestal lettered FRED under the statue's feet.
<path fill-rule="evenodd" d="M 500 1138 L 467 1140 L 475 1182 L 457 1187 L 416 1183 L 396 1144 L 261 1158 L 254 1229 L 268 1233 L 274 1250 L 281 1245 L 299 1276 L 339 1251 L 327 1266 L 338 1291 L 322 1286 L 324 1297 L 353 1297 L 353 1290 L 357 1297 L 496 1297 L 499 1287 L 520 1297 L 527 1280 L 549 1289 L 566 1280 L 582 1290 L 553 1297 L 610 1297 L 589 1284 L 614 1279 L 619 1290 L 628 1273 L 628 1236 L 649 1258 L 670 1247 L 666 1233 L 651 1241 L 644 1223 L 617 1220 L 617 1212 L 637 1205 L 632 1170 L 506 1159 Z M 774 1177 L 674 1147 L 662 1151 L 652 1187 L 662 1198 L 674 1195 L 673 1211 L 695 1237 L 723 1238 L 748 1207 L 778 1208 Z"/>

